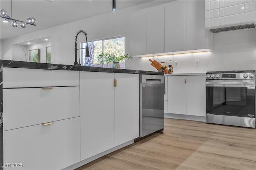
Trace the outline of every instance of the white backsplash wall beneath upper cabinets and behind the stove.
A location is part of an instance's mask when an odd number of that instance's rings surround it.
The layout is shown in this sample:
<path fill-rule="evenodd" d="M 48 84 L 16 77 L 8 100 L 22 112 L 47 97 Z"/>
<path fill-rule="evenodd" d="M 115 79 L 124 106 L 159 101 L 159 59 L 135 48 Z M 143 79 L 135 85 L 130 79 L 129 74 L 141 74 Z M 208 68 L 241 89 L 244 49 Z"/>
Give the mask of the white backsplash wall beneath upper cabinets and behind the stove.
<path fill-rule="evenodd" d="M 256 69 L 256 29 L 228 31 L 214 34 L 214 50 L 208 53 L 134 58 L 126 61 L 126 69 L 156 71 L 148 59 L 179 61 L 173 73 L 207 72 L 218 70 Z M 199 60 L 199 66 L 195 66 Z"/>

